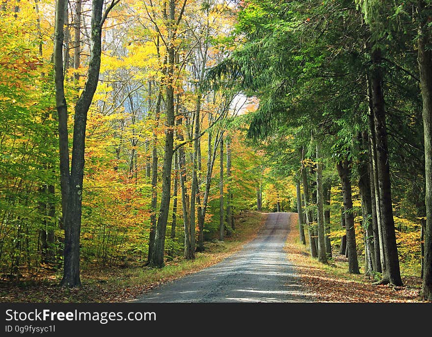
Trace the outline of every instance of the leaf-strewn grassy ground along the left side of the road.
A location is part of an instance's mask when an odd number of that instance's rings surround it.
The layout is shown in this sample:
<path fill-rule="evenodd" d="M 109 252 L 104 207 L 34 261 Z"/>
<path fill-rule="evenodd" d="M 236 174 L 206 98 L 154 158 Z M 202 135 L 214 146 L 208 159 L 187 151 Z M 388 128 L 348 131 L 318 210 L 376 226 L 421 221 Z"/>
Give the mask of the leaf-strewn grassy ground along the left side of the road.
<path fill-rule="evenodd" d="M 18 281 L 0 279 L 0 302 L 124 302 L 163 283 L 197 272 L 225 259 L 251 241 L 266 222 L 267 214 L 243 213 L 236 217 L 236 231 L 224 242 L 205 243 L 205 251 L 196 253 L 194 260 L 178 257 L 165 262 L 163 268 L 86 267 L 81 271 L 81 287 L 58 286 L 61 274 L 47 270 L 37 276 Z"/>

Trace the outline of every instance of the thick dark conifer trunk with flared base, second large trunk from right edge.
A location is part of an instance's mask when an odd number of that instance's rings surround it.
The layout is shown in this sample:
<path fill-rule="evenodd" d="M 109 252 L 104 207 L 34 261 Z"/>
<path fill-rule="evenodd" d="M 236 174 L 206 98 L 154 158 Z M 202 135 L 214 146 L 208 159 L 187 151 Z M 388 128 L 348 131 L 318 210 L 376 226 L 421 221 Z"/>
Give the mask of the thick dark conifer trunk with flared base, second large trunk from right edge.
<path fill-rule="evenodd" d="M 385 124 L 384 96 L 382 92 L 381 51 L 372 51 L 371 84 L 374 103 L 374 122 L 378 163 L 378 188 L 381 211 L 381 230 L 384 247 L 385 269 L 381 284 L 402 285 L 399 269 L 398 247 L 396 245 L 395 223 L 393 219 L 390 165 Z"/>

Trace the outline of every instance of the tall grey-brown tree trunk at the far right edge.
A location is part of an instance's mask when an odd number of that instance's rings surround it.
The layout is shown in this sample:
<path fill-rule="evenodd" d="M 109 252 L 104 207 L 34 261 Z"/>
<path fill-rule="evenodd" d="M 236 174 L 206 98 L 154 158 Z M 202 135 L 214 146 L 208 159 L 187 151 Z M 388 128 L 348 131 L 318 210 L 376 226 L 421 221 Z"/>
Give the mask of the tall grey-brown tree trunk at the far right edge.
<path fill-rule="evenodd" d="M 422 294 L 432 300 L 432 33 L 430 28 L 432 5 L 419 0 L 418 12 L 418 64 L 423 99 L 423 130 L 425 137 L 426 172 L 426 224 L 424 235 Z"/>

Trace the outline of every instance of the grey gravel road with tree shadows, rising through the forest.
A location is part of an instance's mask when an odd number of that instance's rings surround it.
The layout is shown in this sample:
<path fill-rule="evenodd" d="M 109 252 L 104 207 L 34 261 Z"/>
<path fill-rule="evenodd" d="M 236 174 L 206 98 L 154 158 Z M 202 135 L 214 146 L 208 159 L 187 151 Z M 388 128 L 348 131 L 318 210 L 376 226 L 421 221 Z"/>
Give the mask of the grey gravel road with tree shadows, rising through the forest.
<path fill-rule="evenodd" d="M 265 227 L 239 252 L 134 302 L 312 302 L 283 250 L 292 214 L 269 213 Z"/>

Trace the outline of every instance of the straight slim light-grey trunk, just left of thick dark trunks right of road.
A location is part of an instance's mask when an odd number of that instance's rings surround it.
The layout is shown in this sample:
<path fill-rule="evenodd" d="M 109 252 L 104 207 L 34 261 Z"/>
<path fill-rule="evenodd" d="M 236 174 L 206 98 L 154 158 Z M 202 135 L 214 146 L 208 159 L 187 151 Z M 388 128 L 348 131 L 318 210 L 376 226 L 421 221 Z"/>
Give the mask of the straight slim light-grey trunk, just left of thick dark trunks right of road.
<path fill-rule="evenodd" d="M 318 218 L 318 260 L 327 262 L 325 254 L 325 230 L 324 230 L 324 195 L 323 195 L 323 163 L 321 162 L 321 144 L 317 149 L 317 218 Z"/>

